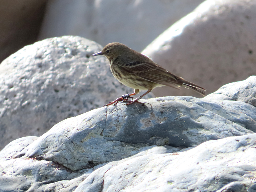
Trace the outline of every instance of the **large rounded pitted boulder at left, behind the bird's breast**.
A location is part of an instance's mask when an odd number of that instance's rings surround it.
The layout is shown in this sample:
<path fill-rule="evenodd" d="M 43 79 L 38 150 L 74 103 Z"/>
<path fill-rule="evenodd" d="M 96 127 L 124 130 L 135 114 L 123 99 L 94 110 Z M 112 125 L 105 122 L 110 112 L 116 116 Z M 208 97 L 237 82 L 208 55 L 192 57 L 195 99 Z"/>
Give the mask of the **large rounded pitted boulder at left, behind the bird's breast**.
<path fill-rule="evenodd" d="M 113 77 L 104 56 L 91 57 L 100 50 L 90 40 L 64 36 L 5 59 L 0 65 L 0 148 L 19 137 L 41 136 L 63 119 L 133 92 Z"/>

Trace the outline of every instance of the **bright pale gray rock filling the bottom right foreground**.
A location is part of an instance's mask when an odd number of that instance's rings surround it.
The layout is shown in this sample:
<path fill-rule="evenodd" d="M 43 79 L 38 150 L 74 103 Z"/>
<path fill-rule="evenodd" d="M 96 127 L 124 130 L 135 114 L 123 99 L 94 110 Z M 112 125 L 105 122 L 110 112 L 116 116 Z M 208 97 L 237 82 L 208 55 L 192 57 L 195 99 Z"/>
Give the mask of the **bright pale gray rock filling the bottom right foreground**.
<path fill-rule="evenodd" d="M 208 141 L 183 152 L 138 155 L 108 170 L 95 170 L 75 192 L 210 192 L 224 186 L 246 191 L 255 182 L 255 147 L 256 134 L 251 134 Z"/>

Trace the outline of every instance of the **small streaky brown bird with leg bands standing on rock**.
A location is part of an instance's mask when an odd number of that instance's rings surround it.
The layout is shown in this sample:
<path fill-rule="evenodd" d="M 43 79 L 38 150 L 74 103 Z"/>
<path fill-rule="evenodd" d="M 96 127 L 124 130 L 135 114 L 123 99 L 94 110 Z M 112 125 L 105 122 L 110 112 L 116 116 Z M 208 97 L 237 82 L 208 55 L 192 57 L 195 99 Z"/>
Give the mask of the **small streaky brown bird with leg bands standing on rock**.
<path fill-rule="evenodd" d="M 138 102 L 138 100 L 148 94 L 152 89 L 165 85 L 176 89 L 180 89 L 180 87 L 183 86 L 205 96 L 206 90 L 203 87 L 170 73 L 145 55 L 130 49 L 124 44 L 110 43 L 106 45 L 102 51 L 95 53 L 92 56 L 96 55 L 106 56 L 109 60 L 110 69 L 115 79 L 127 87 L 134 88 L 133 93 L 123 95 L 122 97 L 109 102 L 105 106 L 115 105 L 119 101 L 128 102 L 126 105 L 133 104 Z M 148 91 L 135 100 L 128 100 L 130 96 L 138 94 L 140 90 Z"/>

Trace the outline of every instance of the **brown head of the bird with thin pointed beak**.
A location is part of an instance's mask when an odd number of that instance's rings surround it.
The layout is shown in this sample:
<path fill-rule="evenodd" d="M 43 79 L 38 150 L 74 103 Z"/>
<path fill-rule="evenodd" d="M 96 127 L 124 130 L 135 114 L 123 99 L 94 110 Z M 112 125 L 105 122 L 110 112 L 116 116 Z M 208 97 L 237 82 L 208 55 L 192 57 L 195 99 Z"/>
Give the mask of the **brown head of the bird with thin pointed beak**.
<path fill-rule="evenodd" d="M 131 51 L 131 49 L 124 44 L 109 43 L 102 49 L 102 51 L 100 51 L 98 53 L 94 53 L 92 56 L 104 55 L 108 58 L 109 61 L 111 61 L 112 59 L 114 59 L 118 56 L 121 56 L 123 54 L 127 54 L 130 51 Z"/>

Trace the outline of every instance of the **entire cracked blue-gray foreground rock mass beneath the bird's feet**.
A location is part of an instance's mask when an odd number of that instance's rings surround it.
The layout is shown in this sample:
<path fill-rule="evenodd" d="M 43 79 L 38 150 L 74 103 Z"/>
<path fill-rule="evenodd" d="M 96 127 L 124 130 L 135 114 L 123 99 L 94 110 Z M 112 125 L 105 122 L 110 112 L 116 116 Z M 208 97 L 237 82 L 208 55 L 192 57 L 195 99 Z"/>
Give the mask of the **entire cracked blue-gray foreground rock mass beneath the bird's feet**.
<path fill-rule="evenodd" d="M 255 192 L 254 106 L 143 101 L 151 106 L 98 108 L 11 142 L 0 152 L 0 191 Z"/>

